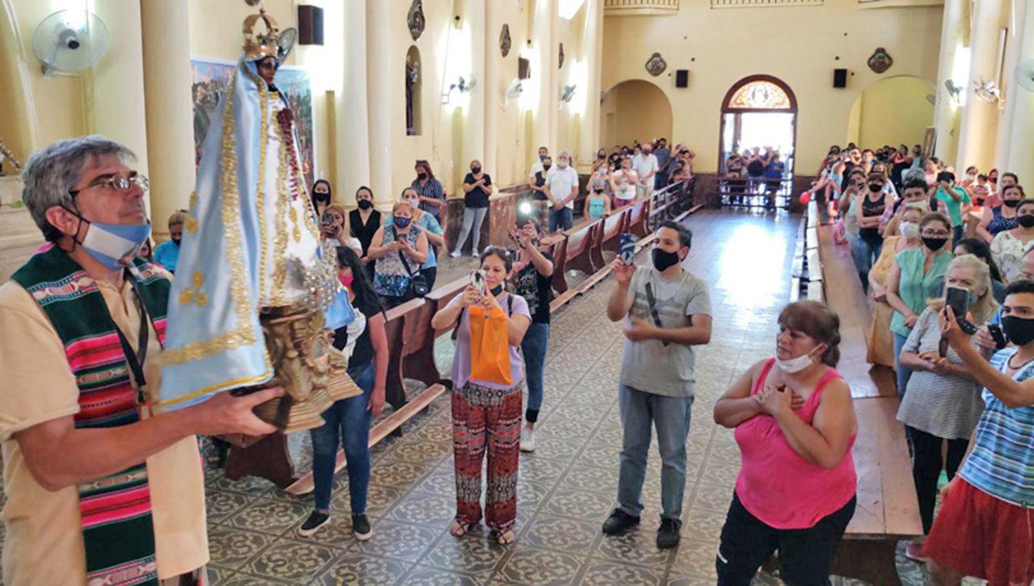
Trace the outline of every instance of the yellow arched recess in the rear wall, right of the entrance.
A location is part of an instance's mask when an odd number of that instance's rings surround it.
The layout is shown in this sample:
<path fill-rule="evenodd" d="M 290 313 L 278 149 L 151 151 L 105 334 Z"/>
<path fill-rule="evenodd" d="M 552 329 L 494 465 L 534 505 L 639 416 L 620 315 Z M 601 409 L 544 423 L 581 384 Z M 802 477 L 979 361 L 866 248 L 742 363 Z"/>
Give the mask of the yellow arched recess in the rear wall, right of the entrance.
<path fill-rule="evenodd" d="M 848 117 L 847 142 L 862 148 L 921 145 L 934 125 L 934 86 L 922 78 L 896 75 L 865 88 Z"/>

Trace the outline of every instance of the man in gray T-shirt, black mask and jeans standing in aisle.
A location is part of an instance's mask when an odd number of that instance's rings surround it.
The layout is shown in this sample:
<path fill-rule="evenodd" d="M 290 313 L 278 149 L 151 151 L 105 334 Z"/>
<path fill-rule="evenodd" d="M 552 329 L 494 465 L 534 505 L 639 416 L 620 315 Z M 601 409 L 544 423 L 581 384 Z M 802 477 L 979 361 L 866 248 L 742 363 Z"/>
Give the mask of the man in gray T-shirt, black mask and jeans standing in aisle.
<path fill-rule="evenodd" d="M 657 547 L 678 544 L 686 490 L 686 439 L 693 407 L 693 346 L 710 341 L 707 283 L 683 270 L 692 234 L 666 221 L 657 230 L 651 267 L 616 258 L 617 287 L 607 302 L 611 321 L 626 319 L 618 405 L 625 436 L 617 508 L 603 532 L 618 535 L 639 524 L 651 426 L 661 452 L 661 526 Z"/>

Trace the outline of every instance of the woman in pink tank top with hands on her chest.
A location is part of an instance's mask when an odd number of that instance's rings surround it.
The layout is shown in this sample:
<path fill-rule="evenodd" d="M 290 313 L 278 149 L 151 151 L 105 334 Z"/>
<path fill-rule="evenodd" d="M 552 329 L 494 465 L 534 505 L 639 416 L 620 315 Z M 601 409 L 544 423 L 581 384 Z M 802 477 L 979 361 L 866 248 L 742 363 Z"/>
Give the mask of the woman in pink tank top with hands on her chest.
<path fill-rule="evenodd" d="M 803 301 L 779 316 L 774 359 L 755 364 L 714 404 L 742 464 L 722 528 L 720 586 L 747 586 L 774 551 L 791 586 L 829 583 L 854 515 L 858 423 L 840 359 L 840 317 Z"/>

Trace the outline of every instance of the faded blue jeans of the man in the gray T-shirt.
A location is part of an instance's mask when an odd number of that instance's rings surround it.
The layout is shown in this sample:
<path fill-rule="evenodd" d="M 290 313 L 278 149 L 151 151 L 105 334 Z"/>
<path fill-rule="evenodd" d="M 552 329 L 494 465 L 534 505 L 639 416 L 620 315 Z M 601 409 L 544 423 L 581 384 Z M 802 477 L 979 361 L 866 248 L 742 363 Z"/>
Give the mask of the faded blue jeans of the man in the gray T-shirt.
<path fill-rule="evenodd" d="M 661 516 L 678 519 L 686 491 L 686 439 L 690 434 L 693 397 L 665 397 L 621 384 L 617 391 L 625 436 L 617 480 L 617 506 L 638 517 L 642 513 L 643 479 L 651 426 L 661 451 Z"/>

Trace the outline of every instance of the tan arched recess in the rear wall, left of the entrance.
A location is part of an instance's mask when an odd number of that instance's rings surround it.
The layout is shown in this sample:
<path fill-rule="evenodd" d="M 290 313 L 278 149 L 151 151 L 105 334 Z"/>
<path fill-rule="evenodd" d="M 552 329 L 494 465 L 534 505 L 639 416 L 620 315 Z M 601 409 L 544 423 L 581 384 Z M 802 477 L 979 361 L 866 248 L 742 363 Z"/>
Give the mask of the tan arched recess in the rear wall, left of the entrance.
<path fill-rule="evenodd" d="M 633 141 L 671 141 L 671 102 L 664 91 L 643 80 L 610 88 L 600 109 L 600 136 L 606 147 Z"/>

